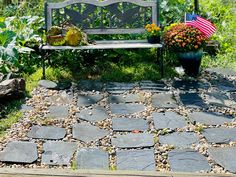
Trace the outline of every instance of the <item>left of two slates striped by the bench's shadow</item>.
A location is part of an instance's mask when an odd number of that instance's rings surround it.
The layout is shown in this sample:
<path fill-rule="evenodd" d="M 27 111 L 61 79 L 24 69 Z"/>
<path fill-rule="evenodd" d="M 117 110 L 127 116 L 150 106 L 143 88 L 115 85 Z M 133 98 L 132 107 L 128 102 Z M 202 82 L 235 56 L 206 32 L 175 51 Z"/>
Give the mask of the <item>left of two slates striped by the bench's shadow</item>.
<path fill-rule="evenodd" d="M 107 84 L 106 90 L 112 94 L 121 94 L 126 91 L 132 90 L 134 87 L 134 83 L 109 82 Z"/>

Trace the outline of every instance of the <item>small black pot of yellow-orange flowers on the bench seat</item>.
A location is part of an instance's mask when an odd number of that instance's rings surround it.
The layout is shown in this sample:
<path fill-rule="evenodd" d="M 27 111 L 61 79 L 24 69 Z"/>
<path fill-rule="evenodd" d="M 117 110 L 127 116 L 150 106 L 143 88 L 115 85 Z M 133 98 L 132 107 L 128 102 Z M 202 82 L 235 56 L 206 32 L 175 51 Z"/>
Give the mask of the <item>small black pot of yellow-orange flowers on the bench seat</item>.
<path fill-rule="evenodd" d="M 145 26 L 147 31 L 147 40 L 151 44 L 160 43 L 160 30 L 161 28 L 156 24 L 147 24 Z"/>

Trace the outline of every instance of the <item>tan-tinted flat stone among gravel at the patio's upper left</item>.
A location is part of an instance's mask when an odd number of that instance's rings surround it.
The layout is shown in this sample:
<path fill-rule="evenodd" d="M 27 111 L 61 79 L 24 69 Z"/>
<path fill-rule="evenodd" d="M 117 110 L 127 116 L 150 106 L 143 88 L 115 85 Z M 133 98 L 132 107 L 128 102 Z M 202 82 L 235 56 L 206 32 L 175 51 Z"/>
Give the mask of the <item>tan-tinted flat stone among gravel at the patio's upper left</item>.
<path fill-rule="evenodd" d="M 69 95 L 64 91 L 48 97 L 48 100 L 54 104 L 70 104 L 73 100 L 73 95 Z"/>

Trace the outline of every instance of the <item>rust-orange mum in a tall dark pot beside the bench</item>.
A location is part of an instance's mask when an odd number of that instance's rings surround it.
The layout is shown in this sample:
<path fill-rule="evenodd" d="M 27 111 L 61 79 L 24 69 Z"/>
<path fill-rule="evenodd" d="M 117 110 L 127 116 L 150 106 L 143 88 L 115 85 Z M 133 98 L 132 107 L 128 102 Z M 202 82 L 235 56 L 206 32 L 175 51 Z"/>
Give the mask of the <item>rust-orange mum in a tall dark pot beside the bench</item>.
<path fill-rule="evenodd" d="M 193 77 L 199 74 L 206 40 L 200 30 L 184 23 L 172 24 L 163 35 L 165 47 L 177 54 L 185 73 Z"/>

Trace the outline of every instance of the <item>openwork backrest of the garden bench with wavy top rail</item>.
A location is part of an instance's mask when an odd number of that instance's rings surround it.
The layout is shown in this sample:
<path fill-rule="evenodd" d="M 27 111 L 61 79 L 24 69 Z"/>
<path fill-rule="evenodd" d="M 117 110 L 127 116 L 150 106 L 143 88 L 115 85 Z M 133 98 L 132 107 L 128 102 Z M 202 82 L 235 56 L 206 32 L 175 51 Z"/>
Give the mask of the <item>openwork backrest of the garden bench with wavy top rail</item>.
<path fill-rule="evenodd" d="M 45 3 L 47 30 L 69 23 L 88 34 L 144 32 L 145 25 L 160 25 L 159 0 L 67 0 Z"/>

